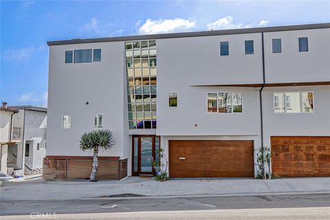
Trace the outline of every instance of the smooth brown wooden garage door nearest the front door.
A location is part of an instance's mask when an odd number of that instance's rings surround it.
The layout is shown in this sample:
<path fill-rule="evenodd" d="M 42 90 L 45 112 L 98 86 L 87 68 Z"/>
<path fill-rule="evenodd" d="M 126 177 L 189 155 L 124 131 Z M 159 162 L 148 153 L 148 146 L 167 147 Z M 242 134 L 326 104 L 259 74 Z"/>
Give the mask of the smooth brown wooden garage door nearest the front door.
<path fill-rule="evenodd" d="M 170 177 L 254 177 L 253 141 L 170 140 Z"/>

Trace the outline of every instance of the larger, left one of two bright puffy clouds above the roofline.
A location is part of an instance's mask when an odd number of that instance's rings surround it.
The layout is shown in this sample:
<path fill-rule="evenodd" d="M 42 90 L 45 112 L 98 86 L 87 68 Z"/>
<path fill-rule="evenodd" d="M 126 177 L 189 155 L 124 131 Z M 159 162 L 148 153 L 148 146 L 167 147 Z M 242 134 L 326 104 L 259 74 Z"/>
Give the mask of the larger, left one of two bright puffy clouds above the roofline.
<path fill-rule="evenodd" d="M 151 20 L 146 19 L 146 22 L 140 26 L 140 34 L 159 34 L 159 33 L 168 33 L 168 32 L 177 32 L 189 30 L 190 28 L 195 27 L 195 21 L 189 21 L 186 19 L 159 19 Z"/>

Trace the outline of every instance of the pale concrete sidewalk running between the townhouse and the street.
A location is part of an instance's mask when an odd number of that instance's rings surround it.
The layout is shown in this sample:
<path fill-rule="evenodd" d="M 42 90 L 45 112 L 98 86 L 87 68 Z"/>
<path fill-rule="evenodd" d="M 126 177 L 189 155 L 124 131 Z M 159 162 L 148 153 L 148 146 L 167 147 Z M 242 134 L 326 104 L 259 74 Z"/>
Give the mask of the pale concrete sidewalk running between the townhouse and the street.
<path fill-rule="evenodd" d="M 98 199 L 102 197 L 194 197 L 220 195 L 276 195 L 330 193 L 330 177 L 292 179 L 171 179 L 128 177 L 120 181 L 6 182 L 1 201 Z"/>

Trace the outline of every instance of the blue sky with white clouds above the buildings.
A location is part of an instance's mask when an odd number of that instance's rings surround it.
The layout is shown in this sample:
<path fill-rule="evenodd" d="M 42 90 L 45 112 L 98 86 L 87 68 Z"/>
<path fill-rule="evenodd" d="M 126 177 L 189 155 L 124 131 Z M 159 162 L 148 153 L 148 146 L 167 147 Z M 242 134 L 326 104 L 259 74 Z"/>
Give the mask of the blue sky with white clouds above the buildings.
<path fill-rule="evenodd" d="M 47 41 L 330 22 L 329 1 L 3 1 L 0 99 L 47 107 Z"/>

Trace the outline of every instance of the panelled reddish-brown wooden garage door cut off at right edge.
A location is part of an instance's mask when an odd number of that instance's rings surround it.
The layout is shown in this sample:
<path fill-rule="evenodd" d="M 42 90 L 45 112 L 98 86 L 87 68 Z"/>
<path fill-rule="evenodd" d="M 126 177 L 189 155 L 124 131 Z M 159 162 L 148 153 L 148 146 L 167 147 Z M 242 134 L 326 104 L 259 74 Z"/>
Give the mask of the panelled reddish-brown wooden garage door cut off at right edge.
<path fill-rule="evenodd" d="M 278 177 L 330 176 L 330 137 L 271 137 Z"/>

